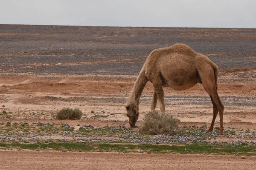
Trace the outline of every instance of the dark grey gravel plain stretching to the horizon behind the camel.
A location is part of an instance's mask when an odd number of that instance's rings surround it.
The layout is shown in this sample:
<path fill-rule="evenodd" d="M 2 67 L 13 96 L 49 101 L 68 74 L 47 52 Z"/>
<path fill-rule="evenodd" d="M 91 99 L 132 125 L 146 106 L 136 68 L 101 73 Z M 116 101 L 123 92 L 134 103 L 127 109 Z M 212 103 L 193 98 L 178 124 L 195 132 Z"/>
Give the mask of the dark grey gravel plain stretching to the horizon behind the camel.
<path fill-rule="evenodd" d="M 136 75 L 152 50 L 177 42 L 219 71 L 256 68 L 256 29 L 0 25 L 0 73 Z"/>

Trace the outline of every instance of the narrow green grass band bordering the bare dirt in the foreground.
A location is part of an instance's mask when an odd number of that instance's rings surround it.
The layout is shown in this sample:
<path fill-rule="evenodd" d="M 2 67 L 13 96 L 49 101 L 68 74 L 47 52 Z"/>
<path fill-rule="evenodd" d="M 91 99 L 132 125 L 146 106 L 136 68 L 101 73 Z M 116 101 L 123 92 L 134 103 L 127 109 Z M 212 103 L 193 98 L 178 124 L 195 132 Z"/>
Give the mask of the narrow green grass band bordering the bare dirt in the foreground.
<path fill-rule="evenodd" d="M 250 145 L 223 145 L 223 144 L 89 144 L 89 143 L 0 143 L 0 148 L 20 148 L 21 150 L 57 150 L 57 151 L 83 151 L 83 152 L 122 152 L 122 153 L 189 153 L 189 154 L 224 154 L 256 156 L 255 146 Z"/>

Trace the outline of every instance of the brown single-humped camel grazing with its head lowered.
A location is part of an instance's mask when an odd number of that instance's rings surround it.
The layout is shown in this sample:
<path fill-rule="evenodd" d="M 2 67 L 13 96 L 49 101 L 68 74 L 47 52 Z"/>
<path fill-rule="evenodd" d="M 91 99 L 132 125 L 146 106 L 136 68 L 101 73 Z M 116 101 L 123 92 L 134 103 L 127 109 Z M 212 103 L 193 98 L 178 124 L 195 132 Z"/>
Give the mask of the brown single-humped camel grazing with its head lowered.
<path fill-rule="evenodd" d="M 217 78 L 217 65 L 205 55 L 192 50 L 188 45 L 177 43 L 170 47 L 155 49 L 146 59 L 125 106 L 130 126 L 134 127 L 139 118 L 140 96 L 148 81 L 153 83 L 154 87 L 151 110 L 155 110 L 157 99 L 159 99 L 160 110 L 163 113 L 165 112 L 163 87 L 169 86 L 181 91 L 201 83 L 213 105 L 212 123 L 206 132 L 212 131 L 219 113 L 219 133 L 223 134 L 224 105 L 218 96 Z"/>

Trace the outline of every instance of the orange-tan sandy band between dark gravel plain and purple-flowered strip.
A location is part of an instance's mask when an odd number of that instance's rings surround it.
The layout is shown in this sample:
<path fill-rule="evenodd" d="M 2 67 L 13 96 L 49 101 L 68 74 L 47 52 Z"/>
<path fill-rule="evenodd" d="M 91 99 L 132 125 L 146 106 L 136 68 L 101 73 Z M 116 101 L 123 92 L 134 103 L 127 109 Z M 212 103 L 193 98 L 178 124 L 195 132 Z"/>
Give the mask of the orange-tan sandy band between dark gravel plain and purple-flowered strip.
<path fill-rule="evenodd" d="M 255 74 L 254 71 L 242 71 L 243 74 Z M 240 75 L 239 74 L 239 75 Z M 52 113 L 64 107 L 79 108 L 90 119 L 95 114 L 108 115 L 101 120 L 125 121 L 125 102 L 134 85 L 136 76 L 116 77 L 39 77 L 39 76 L 0 76 L 3 83 L 0 98 L 5 105 L 2 110 L 11 111 L 11 119 L 53 119 Z M 8 79 L 7 79 L 8 78 Z M 219 77 L 219 95 L 225 105 L 224 123 L 251 122 L 256 123 L 255 94 L 256 87 L 250 81 L 243 83 L 223 84 Z M 239 79 L 233 73 L 225 74 L 227 79 Z M 212 103 L 202 85 L 196 85 L 187 91 L 174 91 L 164 88 L 166 111 L 177 116 L 181 122 L 211 122 Z M 153 87 L 146 85 L 140 105 L 140 118 L 150 111 Z M 159 108 L 157 107 L 157 110 Z M 94 111 L 94 113 L 92 113 Z M 112 113 L 112 114 L 111 114 Z M 218 118 L 217 118 L 218 122 Z M 237 127 L 239 128 L 239 127 Z"/>

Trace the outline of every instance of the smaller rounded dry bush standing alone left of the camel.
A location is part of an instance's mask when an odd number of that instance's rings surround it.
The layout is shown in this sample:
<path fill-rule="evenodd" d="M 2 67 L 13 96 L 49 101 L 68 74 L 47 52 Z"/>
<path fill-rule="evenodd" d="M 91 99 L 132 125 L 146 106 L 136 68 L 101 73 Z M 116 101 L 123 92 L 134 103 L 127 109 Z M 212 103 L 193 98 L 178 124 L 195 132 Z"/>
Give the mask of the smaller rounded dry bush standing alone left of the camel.
<path fill-rule="evenodd" d="M 66 120 L 66 119 L 80 119 L 82 116 L 82 111 L 80 111 L 78 108 L 75 108 L 74 110 L 72 108 L 63 108 L 60 111 L 57 112 L 56 118 L 60 120 Z"/>

